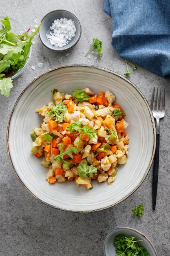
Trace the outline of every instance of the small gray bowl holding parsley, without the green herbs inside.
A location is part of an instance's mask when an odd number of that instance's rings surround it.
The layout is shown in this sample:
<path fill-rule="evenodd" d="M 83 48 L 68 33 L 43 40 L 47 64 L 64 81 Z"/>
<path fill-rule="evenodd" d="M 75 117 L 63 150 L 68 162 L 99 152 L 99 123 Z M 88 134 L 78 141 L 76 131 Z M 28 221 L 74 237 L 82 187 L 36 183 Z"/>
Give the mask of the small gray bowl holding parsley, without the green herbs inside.
<path fill-rule="evenodd" d="M 104 256 L 115 256 L 116 255 L 116 247 L 113 242 L 116 236 L 123 235 L 128 238 L 135 236 L 135 240 L 143 240 L 142 242 L 138 242 L 137 245 L 140 247 L 143 246 L 148 251 L 150 256 L 157 256 L 155 248 L 152 243 L 146 236 L 135 229 L 131 229 L 130 227 L 119 227 L 117 229 L 113 229 L 104 240 Z"/>

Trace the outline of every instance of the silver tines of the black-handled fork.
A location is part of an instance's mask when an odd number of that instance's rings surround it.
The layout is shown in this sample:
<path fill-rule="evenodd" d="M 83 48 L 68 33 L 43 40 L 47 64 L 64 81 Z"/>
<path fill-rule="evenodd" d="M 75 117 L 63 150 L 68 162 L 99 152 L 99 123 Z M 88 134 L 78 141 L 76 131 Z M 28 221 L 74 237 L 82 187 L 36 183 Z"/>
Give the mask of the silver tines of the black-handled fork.
<path fill-rule="evenodd" d="M 162 104 L 161 104 L 161 94 L 162 96 Z M 165 110 L 165 88 L 163 88 L 163 93 L 162 93 L 162 88 L 160 89 L 159 92 L 159 101 L 158 101 L 158 87 L 157 87 L 157 92 L 156 92 L 156 97 L 155 97 L 155 104 L 154 104 L 154 96 L 155 96 L 155 87 L 153 89 L 152 93 L 152 100 L 150 104 L 150 108 L 154 111 L 164 111 Z M 157 106 L 157 101 L 158 101 L 158 106 Z M 154 106 L 153 106 L 154 105 Z"/>

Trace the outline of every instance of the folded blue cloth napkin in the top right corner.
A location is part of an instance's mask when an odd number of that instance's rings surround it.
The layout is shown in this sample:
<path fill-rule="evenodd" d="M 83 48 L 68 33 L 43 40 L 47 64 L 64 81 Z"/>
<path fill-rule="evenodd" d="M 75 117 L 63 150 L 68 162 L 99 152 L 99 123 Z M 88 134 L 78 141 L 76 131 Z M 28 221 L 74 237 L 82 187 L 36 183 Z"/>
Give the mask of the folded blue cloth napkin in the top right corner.
<path fill-rule="evenodd" d="M 120 56 L 170 75 L 169 1 L 104 0 L 104 11 L 112 18 L 112 45 Z"/>

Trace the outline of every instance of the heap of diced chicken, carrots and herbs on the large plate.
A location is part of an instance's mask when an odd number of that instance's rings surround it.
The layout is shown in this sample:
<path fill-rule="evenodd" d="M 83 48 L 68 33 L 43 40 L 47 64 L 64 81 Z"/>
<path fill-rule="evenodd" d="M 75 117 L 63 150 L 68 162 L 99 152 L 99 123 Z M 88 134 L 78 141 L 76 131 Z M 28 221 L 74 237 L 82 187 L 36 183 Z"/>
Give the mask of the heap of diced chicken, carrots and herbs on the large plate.
<path fill-rule="evenodd" d="M 112 92 L 94 95 L 89 88 L 72 94 L 52 91 L 53 100 L 35 112 L 42 115 L 40 128 L 33 128 L 32 153 L 42 156 L 49 168 L 49 183 L 75 180 L 92 188 L 92 180 L 115 181 L 117 164 L 125 164 L 129 135 L 124 110 Z"/>

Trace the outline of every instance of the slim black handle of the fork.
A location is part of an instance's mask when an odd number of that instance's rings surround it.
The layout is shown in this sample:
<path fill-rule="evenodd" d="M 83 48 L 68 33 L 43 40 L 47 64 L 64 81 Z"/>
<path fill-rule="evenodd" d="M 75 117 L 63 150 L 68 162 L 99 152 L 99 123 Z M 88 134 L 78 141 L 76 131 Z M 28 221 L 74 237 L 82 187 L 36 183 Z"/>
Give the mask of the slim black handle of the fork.
<path fill-rule="evenodd" d="M 152 209 L 155 210 L 157 201 L 158 187 L 158 170 L 159 170 L 159 134 L 157 134 L 156 150 L 153 163 L 153 180 L 152 180 Z"/>

